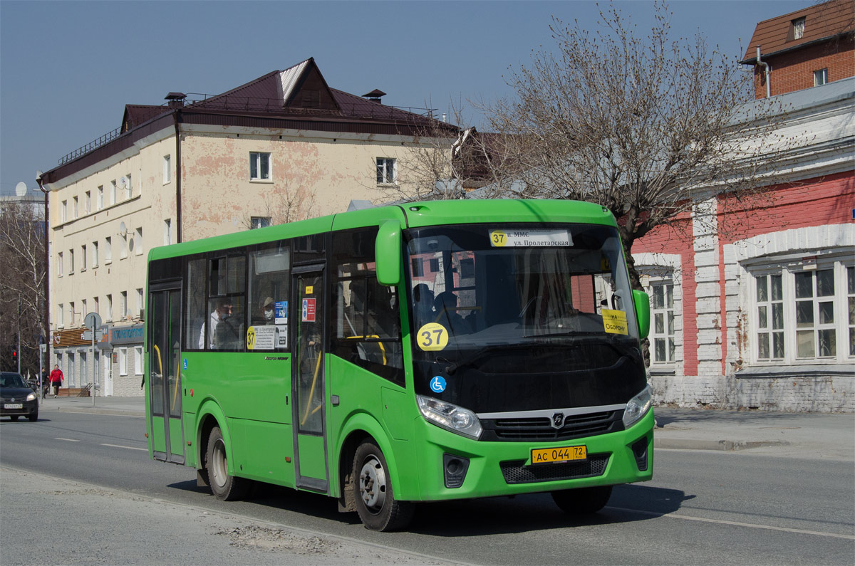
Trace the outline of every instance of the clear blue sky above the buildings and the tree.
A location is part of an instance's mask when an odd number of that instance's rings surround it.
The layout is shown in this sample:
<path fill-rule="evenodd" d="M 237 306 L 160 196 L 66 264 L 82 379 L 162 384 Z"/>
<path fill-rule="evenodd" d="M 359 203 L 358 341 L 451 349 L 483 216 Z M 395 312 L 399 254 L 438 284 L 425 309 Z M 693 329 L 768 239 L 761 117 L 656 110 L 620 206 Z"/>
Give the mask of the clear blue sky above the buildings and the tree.
<path fill-rule="evenodd" d="M 740 56 L 758 21 L 811 0 L 681 0 L 675 34 Z M 605 6 L 601 3 L 600 6 Z M 644 29 L 652 3 L 617 2 Z M 551 16 L 593 27 L 598 5 L 565 2 L 20 2 L 0 0 L 0 195 L 120 126 L 125 104 L 169 91 L 217 94 L 315 57 L 327 84 L 448 111 L 510 95 L 504 76 L 551 48 Z M 741 51 L 740 51 L 741 41 Z M 504 76 L 503 76 L 504 75 Z M 477 115 L 470 113 L 477 123 Z"/>

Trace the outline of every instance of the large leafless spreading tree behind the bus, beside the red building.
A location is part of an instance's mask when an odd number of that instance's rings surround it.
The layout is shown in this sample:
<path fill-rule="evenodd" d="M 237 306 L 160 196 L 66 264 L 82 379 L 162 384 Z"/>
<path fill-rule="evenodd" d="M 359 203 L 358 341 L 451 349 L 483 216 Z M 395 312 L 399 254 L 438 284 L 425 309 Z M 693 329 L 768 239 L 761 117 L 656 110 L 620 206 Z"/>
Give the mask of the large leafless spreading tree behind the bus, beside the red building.
<path fill-rule="evenodd" d="M 635 239 L 722 192 L 745 205 L 764 185 L 759 164 L 786 146 L 769 144 L 781 115 L 771 103 L 746 110 L 751 76 L 735 56 L 711 50 L 700 35 L 672 40 L 665 3 L 654 16 L 645 37 L 614 7 L 600 12 L 593 32 L 553 18 L 554 53 L 535 53 L 513 71 L 516 97 L 488 114 L 511 142 L 511 196 L 610 209 L 636 288 Z"/>

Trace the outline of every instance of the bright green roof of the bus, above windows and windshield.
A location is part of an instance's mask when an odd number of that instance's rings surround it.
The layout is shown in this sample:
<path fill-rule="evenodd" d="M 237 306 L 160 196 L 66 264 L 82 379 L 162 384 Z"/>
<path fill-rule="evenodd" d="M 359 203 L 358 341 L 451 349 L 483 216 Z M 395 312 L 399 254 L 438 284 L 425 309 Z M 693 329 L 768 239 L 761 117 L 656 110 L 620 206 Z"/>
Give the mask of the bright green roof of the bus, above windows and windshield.
<path fill-rule="evenodd" d="M 490 222 L 578 222 L 617 226 L 615 217 L 609 210 L 594 203 L 522 199 L 436 200 L 353 210 L 257 230 L 245 230 L 181 244 L 160 246 L 150 250 L 149 260 L 225 250 L 314 233 L 377 226 L 385 220 L 397 220 L 402 228 Z"/>

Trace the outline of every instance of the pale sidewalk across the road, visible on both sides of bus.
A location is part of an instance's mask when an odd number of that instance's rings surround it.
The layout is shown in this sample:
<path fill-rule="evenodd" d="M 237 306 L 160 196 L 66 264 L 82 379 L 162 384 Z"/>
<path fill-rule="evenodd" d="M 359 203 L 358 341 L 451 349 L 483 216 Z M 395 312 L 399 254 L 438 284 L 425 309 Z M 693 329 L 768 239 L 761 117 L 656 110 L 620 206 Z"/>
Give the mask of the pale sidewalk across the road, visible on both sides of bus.
<path fill-rule="evenodd" d="M 40 410 L 145 416 L 143 397 L 47 398 Z M 855 415 L 657 407 L 656 448 L 750 451 L 855 462 Z"/>

